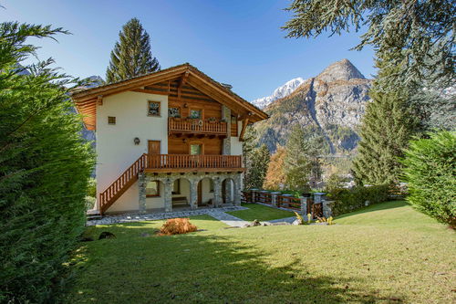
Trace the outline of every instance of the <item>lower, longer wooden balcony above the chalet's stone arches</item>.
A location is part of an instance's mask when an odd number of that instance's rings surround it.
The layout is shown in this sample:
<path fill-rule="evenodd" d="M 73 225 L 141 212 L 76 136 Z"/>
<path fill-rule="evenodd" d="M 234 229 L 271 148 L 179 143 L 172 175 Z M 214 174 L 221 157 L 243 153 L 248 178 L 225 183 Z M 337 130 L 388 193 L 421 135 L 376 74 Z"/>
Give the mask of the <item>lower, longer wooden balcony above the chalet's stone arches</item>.
<path fill-rule="evenodd" d="M 243 172 L 241 155 L 145 154 L 146 173 Z"/>

